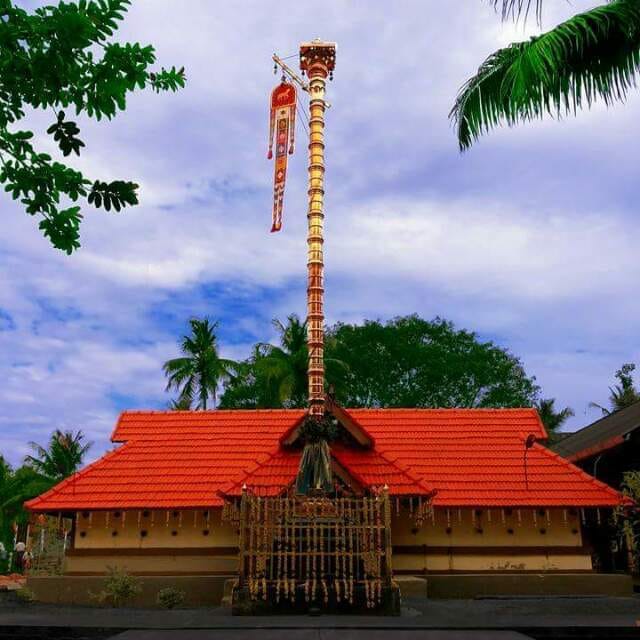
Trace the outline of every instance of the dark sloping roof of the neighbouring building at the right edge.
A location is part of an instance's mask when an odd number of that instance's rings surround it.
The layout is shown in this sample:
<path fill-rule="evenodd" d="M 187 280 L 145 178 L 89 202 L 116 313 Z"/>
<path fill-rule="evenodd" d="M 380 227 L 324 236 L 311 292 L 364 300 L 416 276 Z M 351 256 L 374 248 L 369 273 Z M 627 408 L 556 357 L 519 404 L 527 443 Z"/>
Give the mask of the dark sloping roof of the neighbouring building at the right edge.
<path fill-rule="evenodd" d="M 640 402 L 596 420 L 551 448 L 567 460 L 577 462 L 622 444 L 625 437 L 638 428 Z"/>

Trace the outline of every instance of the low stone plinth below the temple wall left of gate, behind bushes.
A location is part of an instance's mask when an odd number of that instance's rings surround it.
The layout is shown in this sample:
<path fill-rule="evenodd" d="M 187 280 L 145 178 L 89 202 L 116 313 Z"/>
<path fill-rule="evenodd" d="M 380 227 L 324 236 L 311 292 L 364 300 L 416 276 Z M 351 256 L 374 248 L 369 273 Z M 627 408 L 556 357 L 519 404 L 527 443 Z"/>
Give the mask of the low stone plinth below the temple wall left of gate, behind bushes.
<path fill-rule="evenodd" d="M 185 607 L 219 607 L 225 582 L 233 576 L 139 576 L 142 591 L 133 607 L 157 607 L 160 589 L 175 587 L 185 592 Z M 102 591 L 104 576 L 29 576 L 27 586 L 39 602 L 98 606 L 91 594 Z"/>

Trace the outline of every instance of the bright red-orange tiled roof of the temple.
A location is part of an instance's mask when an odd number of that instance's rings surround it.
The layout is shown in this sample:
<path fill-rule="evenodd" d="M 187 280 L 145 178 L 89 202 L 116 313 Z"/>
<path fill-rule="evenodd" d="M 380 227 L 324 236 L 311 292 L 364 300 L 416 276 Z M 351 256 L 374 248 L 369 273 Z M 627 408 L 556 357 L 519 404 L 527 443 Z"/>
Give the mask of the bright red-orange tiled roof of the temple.
<path fill-rule="evenodd" d="M 535 444 L 546 437 L 533 409 L 354 409 L 375 449 L 334 446 L 359 483 L 395 495 L 435 492 L 436 506 L 613 506 L 621 496 Z M 120 416 L 124 442 L 27 503 L 36 511 L 187 508 L 220 505 L 243 482 L 277 492 L 295 477 L 299 454 L 280 437 L 300 410 L 139 411 Z M 528 480 L 528 487 L 527 487 Z"/>

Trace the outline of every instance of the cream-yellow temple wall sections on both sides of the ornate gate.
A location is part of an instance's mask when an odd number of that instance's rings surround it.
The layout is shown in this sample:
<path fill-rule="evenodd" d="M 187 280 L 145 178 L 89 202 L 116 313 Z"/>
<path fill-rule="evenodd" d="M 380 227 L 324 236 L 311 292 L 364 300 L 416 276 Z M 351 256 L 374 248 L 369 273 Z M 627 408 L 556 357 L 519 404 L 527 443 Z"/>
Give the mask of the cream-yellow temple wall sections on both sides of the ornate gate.
<path fill-rule="evenodd" d="M 174 515 L 175 513 L 175 515 Z M 579 515 L 570 510 L 436 510 L 421 527 L 408 509 L 392 515 L 398 573 L 589 571 Z M 140 574 L 233 574 L 237 533 L 221 509 L 77 514 L 65 572 L 102 573 L 119 566 Z M 145 531 L 146 535 L 141 535 Z M 205 531 L 208 533 L 205 535 Z M 116 532 L 116 535 L 114 535 Z M 83 535 L 84 533 L 84 535 Z"/>

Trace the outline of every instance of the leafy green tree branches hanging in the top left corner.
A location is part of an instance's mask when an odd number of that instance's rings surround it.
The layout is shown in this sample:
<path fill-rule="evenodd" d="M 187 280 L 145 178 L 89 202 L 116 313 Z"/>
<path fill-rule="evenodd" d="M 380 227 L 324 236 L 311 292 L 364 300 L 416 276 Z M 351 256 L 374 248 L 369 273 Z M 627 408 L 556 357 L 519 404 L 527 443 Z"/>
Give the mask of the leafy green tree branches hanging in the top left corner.
<path fill-rule="evenodd" d="M 80 129 L 64 109 L 101 120 L 126 108 L 129 93 L 151 88 L 176 91 L 184 70 L 153 71 L 152 46 L 111 42 L 129 0 L 79 0 L 33 12 L 0 0 L 0 182 L 57 249 L 80 246 L 80 205 L 120 211 L 138 203 L 138 185 L 91 181 L 32 144 L 34 134 L 20 128 L 28 110 L 52 109 L 47 129 L 62 155 L 80 155 Z"/>

